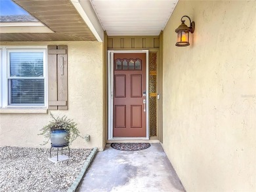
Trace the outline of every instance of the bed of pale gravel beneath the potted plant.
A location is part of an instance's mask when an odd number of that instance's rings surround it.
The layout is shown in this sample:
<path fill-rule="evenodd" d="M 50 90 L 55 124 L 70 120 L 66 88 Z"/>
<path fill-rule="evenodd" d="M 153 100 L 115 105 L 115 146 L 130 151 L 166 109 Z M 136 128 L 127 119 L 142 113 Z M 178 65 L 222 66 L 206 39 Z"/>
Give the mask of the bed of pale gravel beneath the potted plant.
<path fill-rule="evenodd" d="M 70 149 L 70 159 L 52 163 L 50 149 L 0 147 L 0 191 L 67 191 L 91 150 Z"/>

